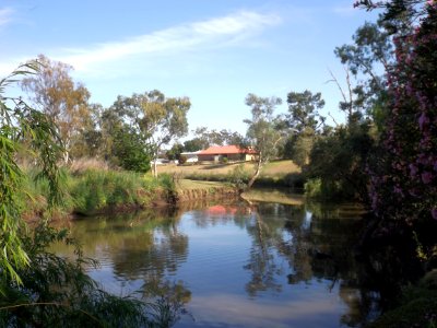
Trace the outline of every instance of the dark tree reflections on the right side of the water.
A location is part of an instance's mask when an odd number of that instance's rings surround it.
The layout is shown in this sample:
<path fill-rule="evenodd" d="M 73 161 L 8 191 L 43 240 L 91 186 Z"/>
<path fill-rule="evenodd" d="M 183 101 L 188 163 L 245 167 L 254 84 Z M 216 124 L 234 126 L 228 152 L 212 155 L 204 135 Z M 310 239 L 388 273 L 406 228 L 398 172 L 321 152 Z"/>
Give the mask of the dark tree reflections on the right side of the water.
<path fill-rule="evenodd" d="M 277 203 L 251 203 L 250 208 L 247 230 L 252 247 L 245 266 L 251 272 L 246 285 L 249 296 L 280 292 L 280 279 L 287 270 L 288 284 L 316 280 L 324 283 L 329 292 L 336 285 L 349 307 L 341 318 L 343 325 L 356 327 L 378 313 L 379 294 L 363 288 L 368 277 L 351 251 L 361 225 L 353 212 L 359 213 L 359 209 L 351 206 L 339 212 L 338 208 L 320 204 Z M 281 265 L 284 261 L 288 266 Z"/>

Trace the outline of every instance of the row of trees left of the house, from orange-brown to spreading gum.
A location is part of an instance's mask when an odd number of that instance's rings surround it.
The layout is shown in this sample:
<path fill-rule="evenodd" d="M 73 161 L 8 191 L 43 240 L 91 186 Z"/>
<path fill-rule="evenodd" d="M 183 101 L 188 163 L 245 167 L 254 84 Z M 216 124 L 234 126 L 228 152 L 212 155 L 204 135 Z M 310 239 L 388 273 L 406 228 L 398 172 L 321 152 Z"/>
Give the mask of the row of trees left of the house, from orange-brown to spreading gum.
<path fill-rule="evenodd" d="M 119 95 L 111 106 L 103 108 L 91 104 L 90 91 L 73 81 L 71 66 L 44 55 L 38 62 L 38 72 L 23 79 L 21 85 L 32 105 L 56 124 L 66 164 L 88 156 L 146 172 L 164 145 L 188 132 L 188 97 L 166 97 L 154 90 Z"/>

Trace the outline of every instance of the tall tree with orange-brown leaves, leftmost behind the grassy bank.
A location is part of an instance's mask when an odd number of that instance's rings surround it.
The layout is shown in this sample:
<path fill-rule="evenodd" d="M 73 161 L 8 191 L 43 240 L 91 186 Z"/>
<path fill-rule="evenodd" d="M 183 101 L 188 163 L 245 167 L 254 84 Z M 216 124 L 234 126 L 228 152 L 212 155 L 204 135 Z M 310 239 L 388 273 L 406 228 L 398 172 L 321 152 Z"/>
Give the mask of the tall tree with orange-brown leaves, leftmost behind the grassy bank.
<path fill-rule="evenodd" d="M 38 56 L 38 61 L 40 70 L 23 79 L 22 89 L 32 94 L 35 106 L 57 125 L 66 147 L 67 163 L 74 139 L 82 134 L 88 122 L 91 94 L 83 84 L 74 83 L 70 77 L 71 66 L 51 61 L 44 55 Z"/>

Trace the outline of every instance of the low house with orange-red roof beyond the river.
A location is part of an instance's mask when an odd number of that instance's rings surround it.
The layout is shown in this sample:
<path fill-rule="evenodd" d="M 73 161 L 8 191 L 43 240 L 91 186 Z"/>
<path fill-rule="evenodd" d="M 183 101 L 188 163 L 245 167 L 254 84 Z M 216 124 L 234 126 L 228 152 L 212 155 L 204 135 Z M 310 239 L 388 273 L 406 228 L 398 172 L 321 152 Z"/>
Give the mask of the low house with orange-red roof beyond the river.
<path fill-rule="evenodd" d="M 258 153 L 253 149 L 244 149 L 238 145 L 214 145 L 197 153 L 200 162 L 238 162 L 256 161 Z M 226 159 L 226 160 L 225 160 Z"/>

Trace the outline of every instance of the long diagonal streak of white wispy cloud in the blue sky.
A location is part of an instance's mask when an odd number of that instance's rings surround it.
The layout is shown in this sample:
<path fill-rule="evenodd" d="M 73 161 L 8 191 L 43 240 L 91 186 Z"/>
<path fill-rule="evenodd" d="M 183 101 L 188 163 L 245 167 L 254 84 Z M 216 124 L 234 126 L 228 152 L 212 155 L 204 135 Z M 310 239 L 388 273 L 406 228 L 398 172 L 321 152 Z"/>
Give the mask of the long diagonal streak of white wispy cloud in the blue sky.
<path fill-rule="evenodd" d="M 97 44 L 82 49 L 63 49 L 63 55 L 57 59 L 72 65 L 78 71 L 90 71 L 96 65 L 138 55 L 177 54 L 204 47 L 229 46 L 249 39 L 253 34 L 279 23 L 281 23 L 279 15 L 243 11 L 120 42 Z"/>

